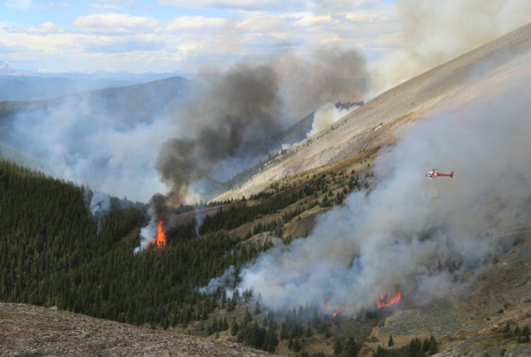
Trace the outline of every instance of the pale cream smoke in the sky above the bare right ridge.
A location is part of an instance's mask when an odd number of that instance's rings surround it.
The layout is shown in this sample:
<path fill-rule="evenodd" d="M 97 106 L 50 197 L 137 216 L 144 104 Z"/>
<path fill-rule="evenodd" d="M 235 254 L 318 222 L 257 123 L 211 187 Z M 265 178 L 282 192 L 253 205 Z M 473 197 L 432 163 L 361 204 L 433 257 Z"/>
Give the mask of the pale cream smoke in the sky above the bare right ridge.
<path fill-rule="evenodd" d="M 401 0 L 397 10 L 404 45 L 372 66 L 374 94 L 531 21 L 528 0 Z"/>

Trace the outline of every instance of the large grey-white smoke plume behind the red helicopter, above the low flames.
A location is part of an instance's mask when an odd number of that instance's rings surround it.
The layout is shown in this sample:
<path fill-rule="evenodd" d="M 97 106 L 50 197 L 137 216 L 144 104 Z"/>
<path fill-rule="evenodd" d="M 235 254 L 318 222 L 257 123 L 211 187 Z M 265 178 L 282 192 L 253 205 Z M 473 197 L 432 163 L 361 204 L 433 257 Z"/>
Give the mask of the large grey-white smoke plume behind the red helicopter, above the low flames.
<path fill-rule="evenodd" d="M 531 98 L 525 79 L 513 82 L 411 127 L 378 157 L 371 192 L 354 192 L 310 237 L 243 268 L 239 289 L 272 308 L 330 300 L 358 313 L 374 309 L 380 292 L 426 304 L 473 280 L 529 219 Z M 434 167 L 454 178 L 427 180 Z"/>

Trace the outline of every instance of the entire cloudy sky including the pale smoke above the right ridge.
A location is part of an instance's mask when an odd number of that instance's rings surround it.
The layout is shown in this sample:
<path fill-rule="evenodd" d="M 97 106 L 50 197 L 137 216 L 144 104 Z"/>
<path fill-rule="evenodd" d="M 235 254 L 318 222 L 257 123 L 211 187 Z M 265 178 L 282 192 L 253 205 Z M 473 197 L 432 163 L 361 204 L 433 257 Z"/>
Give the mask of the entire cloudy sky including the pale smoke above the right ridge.
<path fill-rule="evenodd" d="M 529 21 L 530 0 L 7 0 L 0 60 L 48 72 L 196 72 L 355 49 L 386 88 Z"/>

